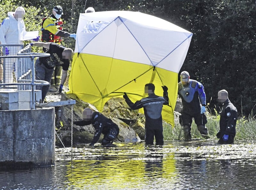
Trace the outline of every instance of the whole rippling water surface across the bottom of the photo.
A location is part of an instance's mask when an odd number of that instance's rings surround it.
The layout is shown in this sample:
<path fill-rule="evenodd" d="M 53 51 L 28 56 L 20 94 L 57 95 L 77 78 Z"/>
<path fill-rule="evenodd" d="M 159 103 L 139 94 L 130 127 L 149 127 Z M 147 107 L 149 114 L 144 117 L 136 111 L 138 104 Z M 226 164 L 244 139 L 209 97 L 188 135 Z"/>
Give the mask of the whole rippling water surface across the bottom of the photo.
<path fill-rule="evenodd" d="M 0 172 L 0 189 L 254 189 L 255 143 L 58 148 L 56 165 Z"/>

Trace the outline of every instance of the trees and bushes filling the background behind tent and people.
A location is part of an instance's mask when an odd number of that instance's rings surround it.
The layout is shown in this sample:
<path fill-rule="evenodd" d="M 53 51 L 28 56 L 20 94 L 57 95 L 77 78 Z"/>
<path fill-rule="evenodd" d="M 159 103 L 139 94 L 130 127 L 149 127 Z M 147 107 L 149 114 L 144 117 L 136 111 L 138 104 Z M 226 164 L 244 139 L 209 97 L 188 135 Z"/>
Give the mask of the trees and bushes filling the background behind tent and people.
<path fill-rule="evenodd" d="M 70 33 L 76 32 L 79 15 L 87 7 L 94 7 L 95 11 L 140 11 L 163 18 L 193 33 L 181 70 L 187 70 L 191 79 L 204 84 L 211 111 L 214 113 L 217 105 L 217 92 L 226 89 L 231 102 L 241 108 L 239 115 L 248 118 L 247 122 L 253 122 L 250 114 L 253 115 L 256 100 L 256 88 L 253 87 L 256 71 L 255 1 L 54 0 L 50 3 L 48 0 L 2 0 L 0 21 L 7 16 L 7 11 L 23 6 L 27 11 L 24 18 L 27 30 L 40 31 L 42 18 L 51 14 L 57 4 L 63 7 L 64 29 Z M 72 38 L 66 38 L 63 45 L 74 49 L 74 42 Z M 210 119 L 208 122 L 210 128 Z"/>

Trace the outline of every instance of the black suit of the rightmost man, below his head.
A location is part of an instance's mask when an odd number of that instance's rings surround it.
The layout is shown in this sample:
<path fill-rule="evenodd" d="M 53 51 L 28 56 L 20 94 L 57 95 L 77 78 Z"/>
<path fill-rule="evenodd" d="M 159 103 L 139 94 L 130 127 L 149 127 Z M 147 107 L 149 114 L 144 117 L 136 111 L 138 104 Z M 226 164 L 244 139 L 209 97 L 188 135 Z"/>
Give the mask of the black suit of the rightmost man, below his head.
<path fill-rule="evenodd" d="M 237 109 L 227 99 L 220 112 L 220 131 L 217 133 L 217 137 L 220 139 L 219 143 L 233 143 L 236 136 L 236 120 L 237 120 Z M 228 141 L 223 141 L 223 135 L 228 135 Z"/>

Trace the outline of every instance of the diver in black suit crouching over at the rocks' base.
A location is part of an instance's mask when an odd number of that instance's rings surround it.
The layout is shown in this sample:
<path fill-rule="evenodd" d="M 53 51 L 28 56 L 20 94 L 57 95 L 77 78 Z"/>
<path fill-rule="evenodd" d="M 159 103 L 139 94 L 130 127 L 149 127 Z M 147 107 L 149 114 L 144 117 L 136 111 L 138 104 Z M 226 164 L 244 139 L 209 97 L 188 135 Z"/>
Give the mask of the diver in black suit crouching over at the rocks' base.
<path fill-rule="evenodd" d="M 101 144 L 103 146 L 113 146 L 113 141 L 119 134 L 118 126 L 111 120 L 105 117 L 102 113 L 93 112 L 90 108 L 85 108 L 82 121 L 74 121 L 75 125 L 84 126 L 92 124 L 95 128 L 94 137 L 90 146 L 93 146 L 100 138 L 101 133 L 104 135 Z"/>

